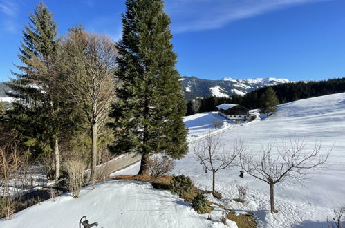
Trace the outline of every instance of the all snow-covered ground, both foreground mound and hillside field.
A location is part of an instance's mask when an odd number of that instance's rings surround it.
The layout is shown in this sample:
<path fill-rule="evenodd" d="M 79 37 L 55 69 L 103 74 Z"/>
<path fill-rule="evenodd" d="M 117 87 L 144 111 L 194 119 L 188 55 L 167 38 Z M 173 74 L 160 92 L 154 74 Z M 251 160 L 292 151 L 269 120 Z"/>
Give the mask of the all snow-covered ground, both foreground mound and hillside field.
<path fill-rule="evenodd" d="M 185 117 L 189 140 L 191 135 L 198 138 L 216 131 L 212 124 L 214 117 L 213 113 Z M 230 126 L 231 122 L 223 121 Z M 277 113 L 265 120 L 230 127 L 218 135 L 230 149 L 236 137 L 242 138 L 254 153 L 259 153 L 261 146 L 270 142 L 286 142 L 291 135 L 304 137 L 309 148 L 321 141 L 322 151 L 334 144 L 323 169 L 311 173 L 304 182 L 290 180 L 276 186 L 277 214 L 270 213 L 268 184 L 246 173 L 244 178 L 239 178 L 239 169 L 216 174 L 216 191 L 223 196 L 220 202 L 238 213 L 253 212 L 258 227 L 328 227 L 326 220 L 332 219 L 333 209 L 345 205 L 345 93 L 283 104 Z M 176 162 L 174 174 L 188 175 L 200 189 L 212 189 L 211 173 L 203 171 L 192 148 L 189 149 L 185 158 Z M 113 175 L 136 174 L 138 169 L 139 164 L 134 164 Z M 232 200 L 238 197 L 236 184 L 248 188 L 244 204 Z M 215 198 L 212 200 L 217 202 Z M 93 191 L 86 187 L 77 199 L 64 195 L 56 202 L 47 200 L 30 207 L 15 214 L 13 220 L 0 220 L 0 227 L 77 227 L 84 215 L 104 228 L 113 227 L 113 224 L 116 227 L 223 226 L 219 222 L 209 222 L 207 215 L 198 215 L 189 204 L 168 191 L 153 190 L 149 184 L 139 182 L 109 181 L 98 184 Z"/>

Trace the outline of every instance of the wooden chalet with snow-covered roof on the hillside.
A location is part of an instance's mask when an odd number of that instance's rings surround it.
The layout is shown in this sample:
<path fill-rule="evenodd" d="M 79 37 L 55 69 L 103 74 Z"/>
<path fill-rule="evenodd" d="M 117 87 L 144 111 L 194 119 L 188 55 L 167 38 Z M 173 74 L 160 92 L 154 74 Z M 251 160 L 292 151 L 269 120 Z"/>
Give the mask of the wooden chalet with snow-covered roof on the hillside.
<path fill-rule="evenodd" d="M 248 120 L 249 108 L 239 104 L 221 104 L 217 106 L 218 114 L 230 120 Z"/>

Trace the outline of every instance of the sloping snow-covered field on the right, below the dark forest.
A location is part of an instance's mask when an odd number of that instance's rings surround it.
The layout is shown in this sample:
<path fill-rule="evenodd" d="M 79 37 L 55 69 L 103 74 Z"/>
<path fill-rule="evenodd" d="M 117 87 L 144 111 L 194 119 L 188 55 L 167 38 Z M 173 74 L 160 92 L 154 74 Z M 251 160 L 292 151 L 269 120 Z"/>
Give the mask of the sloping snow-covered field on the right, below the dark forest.
<path fill-rule="evenodd" d="M 189 134 L 194 134 L 194 129 L 189 128 Z M 271 215 L 269 212 L 268 184 L 248 175 L 239 178 L 239 170 L 219 171 L 216 190 L 223 194 L 221 201 L 227 207 L 254 212 L 259 218 L 259 227 L 327 227 L 326 220 L 332 219 L 333 209 L 345 205 L 345 93 L 282 104 L 277 113 L 265 120 L 221 134 L 228 148 L 232 148 L 237 137 L 243 139 L 253 153 L 259 153 L 261 146 L 270 142 L 288 142 L 291 136 L 304 138 L 309 149 L 319 141 L 321 151 L 334 147 L 324 169 L 313 171 L 304 182 L 290 180 L 275 188 L 279 213 Z M 176 162 L 174 173 L 189 175 L 197 187 L 211 189 L 212 174 L 203 172 L 192 148 L 189 149 L 185 158 Z M 236 184 L 248 187 L 248 200 L 244 205 L 232 200 L 237 197 Z"/>

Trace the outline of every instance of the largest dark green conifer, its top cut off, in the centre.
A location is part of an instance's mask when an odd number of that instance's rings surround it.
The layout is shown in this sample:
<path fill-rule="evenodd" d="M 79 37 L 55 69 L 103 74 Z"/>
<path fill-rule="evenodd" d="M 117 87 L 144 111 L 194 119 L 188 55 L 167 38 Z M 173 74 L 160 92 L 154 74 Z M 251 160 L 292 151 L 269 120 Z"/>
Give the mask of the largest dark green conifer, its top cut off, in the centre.
<path fill-rule="evenodd" d="M 149 172 L 149 155 L 182 158 L 187 152 L 186 106 L 175 68 L 170 18 L 162 0 L 127 0 L 117 76 L 122 81 L 115 118 L 114 153 L 142 154 L 139 174 Z"/>

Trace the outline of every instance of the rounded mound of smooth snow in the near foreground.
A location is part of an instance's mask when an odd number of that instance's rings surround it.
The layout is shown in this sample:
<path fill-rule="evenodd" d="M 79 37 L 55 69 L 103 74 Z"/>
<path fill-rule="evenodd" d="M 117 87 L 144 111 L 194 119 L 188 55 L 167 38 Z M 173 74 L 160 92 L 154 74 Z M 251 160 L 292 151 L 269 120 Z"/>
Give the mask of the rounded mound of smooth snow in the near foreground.
<path fill-rule="evenodd" d="M 214 219 L 221 213 L 216 209 Z M 111 180 L 85 187 L 79 198 L 68 194 L 46 200 L 0 220 L 0 227 L 78 227 L 82 216 L 99 227 L 225 227 L 219 221 L 199 215 L 189 202 L 169 191 L 153 189 L 151 184 Z M 227 220 L 236 228 L 234 222 Z"/>

